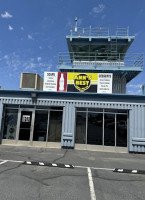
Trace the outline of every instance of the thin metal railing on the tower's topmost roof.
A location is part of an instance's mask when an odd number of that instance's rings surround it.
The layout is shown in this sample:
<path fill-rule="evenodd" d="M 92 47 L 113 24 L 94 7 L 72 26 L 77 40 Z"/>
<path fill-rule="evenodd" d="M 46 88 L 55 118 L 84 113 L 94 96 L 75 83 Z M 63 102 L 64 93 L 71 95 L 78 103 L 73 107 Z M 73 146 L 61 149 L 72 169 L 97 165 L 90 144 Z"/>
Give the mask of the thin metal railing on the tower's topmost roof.
<path fill-rule="evenodd" d="M 129 27 L 127 28 L 116 28 L 115 36 L 128 36 L 129 35 Z M 110 29 L 105 27 L 96 27 L 92 28 L 82 28 L 82 27 L 72 27 L 70 30 L 70 36 L 110 36 Z"/>

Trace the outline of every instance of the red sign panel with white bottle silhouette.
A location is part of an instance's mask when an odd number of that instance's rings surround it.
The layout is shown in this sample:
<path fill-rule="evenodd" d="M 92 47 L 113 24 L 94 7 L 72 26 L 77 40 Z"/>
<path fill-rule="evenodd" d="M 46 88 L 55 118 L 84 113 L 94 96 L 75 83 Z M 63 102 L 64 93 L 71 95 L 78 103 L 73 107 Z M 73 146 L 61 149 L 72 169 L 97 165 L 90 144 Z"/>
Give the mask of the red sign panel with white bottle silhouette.
<path fill-rule="evenodd" d="M 67 72 L 58 72 L 57 91 L 67 92 Z"/>

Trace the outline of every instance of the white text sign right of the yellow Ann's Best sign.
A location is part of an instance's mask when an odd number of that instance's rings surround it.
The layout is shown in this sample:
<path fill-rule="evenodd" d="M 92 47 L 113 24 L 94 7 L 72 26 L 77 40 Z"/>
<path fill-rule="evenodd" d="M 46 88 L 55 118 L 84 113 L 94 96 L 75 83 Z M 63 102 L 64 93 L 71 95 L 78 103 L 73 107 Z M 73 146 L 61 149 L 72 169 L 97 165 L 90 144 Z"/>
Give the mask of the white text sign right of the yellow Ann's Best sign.
<path fill-rule="evenodd" d="M 97 93 L 112 93 L 112 80 L 113 74 L 111 73 L 99 73 L 98 74 L 98 87 Z"/>

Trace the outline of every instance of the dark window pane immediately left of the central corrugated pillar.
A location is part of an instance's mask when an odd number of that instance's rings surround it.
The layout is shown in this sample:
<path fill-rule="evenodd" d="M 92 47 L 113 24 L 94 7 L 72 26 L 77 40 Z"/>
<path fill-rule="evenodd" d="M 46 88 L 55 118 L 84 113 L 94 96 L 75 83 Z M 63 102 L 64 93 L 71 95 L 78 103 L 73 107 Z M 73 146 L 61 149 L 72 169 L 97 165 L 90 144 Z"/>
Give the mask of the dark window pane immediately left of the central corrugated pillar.
<path fill-rule="evenodd" d="M 61 142 L 62 111 L 50 111 L 49 118 L 49 142 Z"/>

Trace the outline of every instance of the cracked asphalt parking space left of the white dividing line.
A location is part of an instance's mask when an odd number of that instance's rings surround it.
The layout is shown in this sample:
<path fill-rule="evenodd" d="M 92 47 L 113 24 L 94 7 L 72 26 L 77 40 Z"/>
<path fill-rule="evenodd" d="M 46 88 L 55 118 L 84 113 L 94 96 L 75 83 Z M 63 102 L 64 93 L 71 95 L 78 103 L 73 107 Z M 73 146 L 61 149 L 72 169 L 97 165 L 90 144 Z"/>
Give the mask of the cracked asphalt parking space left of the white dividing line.
<path fill-rule="evenodd" d="M 6 162 L 0 165 L 1 200 L 90 199 L 86 169 Z"/>

